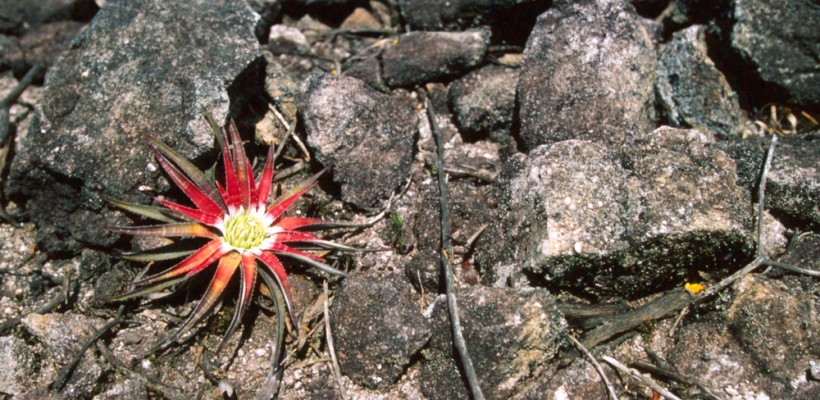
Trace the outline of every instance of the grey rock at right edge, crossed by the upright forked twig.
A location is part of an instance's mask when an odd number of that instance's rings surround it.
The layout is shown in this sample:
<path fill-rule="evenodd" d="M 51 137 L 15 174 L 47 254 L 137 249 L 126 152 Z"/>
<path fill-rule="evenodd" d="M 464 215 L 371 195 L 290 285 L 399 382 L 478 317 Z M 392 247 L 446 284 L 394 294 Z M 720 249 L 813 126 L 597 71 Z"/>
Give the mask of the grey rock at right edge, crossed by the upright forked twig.
<path fill-rule="evenodd" d="M 718 145 L 738 166 L 738 182 L 757 194 L 768 141 L 730 140 Z M 820 229 L 820 187 L 817 186 L 820 140 L 817 133 L 783 136 L 777 143 L 766 180 L 766 209 L 786 226 Z"/>

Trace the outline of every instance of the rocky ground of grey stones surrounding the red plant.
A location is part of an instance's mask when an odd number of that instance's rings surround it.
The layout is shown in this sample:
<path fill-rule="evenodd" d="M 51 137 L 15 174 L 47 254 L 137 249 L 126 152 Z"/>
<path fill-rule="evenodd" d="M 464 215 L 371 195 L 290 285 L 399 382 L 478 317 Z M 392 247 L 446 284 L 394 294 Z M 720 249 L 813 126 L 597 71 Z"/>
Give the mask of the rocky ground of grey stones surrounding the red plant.
<path fill-rule="evenodd" d="M 104 301 L 144 268 L 117 254 L 157 245 L 103 229 L 144 223 L 106 200 L 186 201 L 143 135 L 210 169 L 204 112 L 236 120 L 257 172 L 290 128 L 277 190 L 330 169 L 293 212 L 375 221 L 325 235 L 389 248 L 331 255 L 345 279 L 287 266 L 280 398 L 470 397 L 434 133 L 486 398 L 606 398 L 570 336 L 679 398 L 820 398 L 818 26 L 808 0 L 0 0 L 0 98 L 45 67 L 0 103 L 0 398 L 262 393 L 266 293 L 214 357 L 236 288 L 155 354 L 209 278 Z M 727 280 L 756 255 L 803 270 Z"/>

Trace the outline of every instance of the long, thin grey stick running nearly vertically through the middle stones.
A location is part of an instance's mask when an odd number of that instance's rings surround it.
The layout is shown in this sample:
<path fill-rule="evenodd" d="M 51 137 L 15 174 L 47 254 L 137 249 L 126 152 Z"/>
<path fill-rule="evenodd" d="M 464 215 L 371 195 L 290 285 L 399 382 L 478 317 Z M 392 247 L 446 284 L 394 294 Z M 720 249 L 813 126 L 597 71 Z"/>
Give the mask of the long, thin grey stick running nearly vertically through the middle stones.
<path fill-rule="evenodd" d="M 458 351 L 459 359 L 464 367 L 464 375 L 467 378 L 467 384 L 470 386 L 470 392 L 475 400 L 484 400 L 484 394 L 481 392 L 481 387 L 478 385 L 478 377 L 473 368 L 473 361 L 470 359 L 470 353 L 467 351 L 467 343 L 464 340 L 464 335 L 461 332 L 461 321 L 458 317 L 458 302 L 455 295 L 455 282 L 453 279 L 453 270 L 450 266 L 449 255 L 453 254 L 452 243 L 450 241 L 451 223 L 450 223 L 450 206 L 449 206 L 449 192 L 447 190 L 447 178 L 444 175 L 444 141 L 441 138 L 441 132 L 438 129 L 436 122 L 436 114 L 433 111 L 433 105 L 430 99 L 425 100 L 427 108 L 427 119 L 430 120 L 430 130 L 433 132 L 433 137 L 436 140 L 436 175 L 438 177 L 439 200 L 441 207 L 441 254 L 439 261 L 441 269 L 444 273 L 444 287 L 447 293 L 447 308 L 450 314 L 450 326 L 453 330 L 453 344 Z"/>

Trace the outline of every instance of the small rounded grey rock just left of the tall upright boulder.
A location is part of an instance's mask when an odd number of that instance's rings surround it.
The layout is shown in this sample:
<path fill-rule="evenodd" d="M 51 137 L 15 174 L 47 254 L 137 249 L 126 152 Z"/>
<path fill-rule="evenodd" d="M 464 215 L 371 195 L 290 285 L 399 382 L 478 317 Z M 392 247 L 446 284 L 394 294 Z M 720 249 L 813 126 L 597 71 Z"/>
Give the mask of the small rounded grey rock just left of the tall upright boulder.
<path fill-rule="evenodd" d="M 487 66 L 456 80 L 449 88 L 450 108 L 462 134 L 469 138 L 510 139 L 518 71 Z"/>

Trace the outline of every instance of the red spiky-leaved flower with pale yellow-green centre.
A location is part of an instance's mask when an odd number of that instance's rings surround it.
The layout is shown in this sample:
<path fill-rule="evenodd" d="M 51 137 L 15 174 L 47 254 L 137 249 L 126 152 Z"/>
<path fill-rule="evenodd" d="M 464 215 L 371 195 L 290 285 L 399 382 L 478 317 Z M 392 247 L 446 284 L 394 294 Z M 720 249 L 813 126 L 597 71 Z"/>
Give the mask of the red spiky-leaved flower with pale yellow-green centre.
<path fill-rule="evenodd" d="M 161 196 L 156 200 L 163 207 L 113 201 L 115 205 L 127 211 L 165 223 L 151 226 L 115 226 L 108 227 L 109 230 L 129 235 L 196 237 L 207 241 L 193 252 L 175 250 L 127 256 L 126 258 L 134 260 L 156 261 L 187 255 L 176 265 L 133 282 L 133 289 L 130 292 L 113 300 L 126 300 L 181 284 L 211 265 L 217 264 L 211 283 L 199 304 L 188 319 L 173 334 L 161 341 L 157 348 L 172 343 L 207 315 L 237 271 L 241 285 L 239 303 L 219 349 L 242 320 L 258 274 L 265 278 L 274 302 L 279 298 L 277 294 L 281 294 L 286 307 L 280 306 L 279 310 L 286 308 L 293 326 L 298 327 L 287 273 L 279 256 L 302 261 L 333 275 L 344 276 L 343 272 L 325 264 L 322 257 L 311 253 L 310 249 L 304 249 L 304 246 L 313 249 L 355 250 L 322 240 L 314 233 L 303 230 L 332 225 L 329 221 L 284 216 L 285 211 L 299 197 L 316 185 L 317 179 L 324 171 L 278 200 L 269 202 L 273 181 L 273 146 L 268 151 L 261 174 L 258 179 L 254 179 L 251 164 L 245 155 L 234 123 L 231 122 L 227 128 L 220 130 L 210 116 L 208 120 L 222 150 L 224 186 L 219 182 L 211 183 L 202 171 L 184 157 L 159 139 L 148 136 L 149 146 L 157 162 L 191 200 L 194 207 L 178 204 Z"/>

